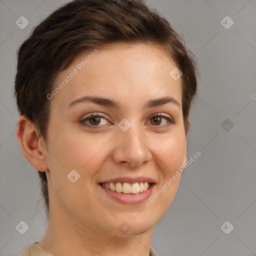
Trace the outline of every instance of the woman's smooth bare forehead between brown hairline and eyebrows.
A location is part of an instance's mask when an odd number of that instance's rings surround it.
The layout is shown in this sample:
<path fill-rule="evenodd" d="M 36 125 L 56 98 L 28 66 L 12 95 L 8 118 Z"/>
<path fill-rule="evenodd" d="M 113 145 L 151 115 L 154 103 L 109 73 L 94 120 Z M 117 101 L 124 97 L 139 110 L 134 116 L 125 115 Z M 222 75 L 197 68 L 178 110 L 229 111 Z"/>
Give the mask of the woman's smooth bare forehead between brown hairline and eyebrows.
<path fill-rule="evenodd" d="M 81 51 L 55 79 L 54 88 L 62 84 L 51 104 L 66 107 L 85 96 L 141 100 L 156 96 L 173 96 L 181 104 L 181 79 L 169 72 L 175 67 L 171 57 L 158 46 L 145 43 L 115 43 Z M 72 77 L 71 77 L 72 76 Z M 131 102 L 129 102 L 131 103 Z"/>

